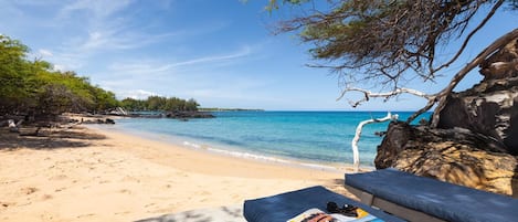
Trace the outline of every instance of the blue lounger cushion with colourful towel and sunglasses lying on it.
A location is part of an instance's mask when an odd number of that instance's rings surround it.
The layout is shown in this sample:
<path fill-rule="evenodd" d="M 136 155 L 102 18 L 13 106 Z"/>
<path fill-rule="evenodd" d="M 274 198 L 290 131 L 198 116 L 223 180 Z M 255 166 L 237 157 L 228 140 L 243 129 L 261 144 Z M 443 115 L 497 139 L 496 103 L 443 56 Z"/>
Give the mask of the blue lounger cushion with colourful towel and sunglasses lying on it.
<path fill-rule="evenodd" d="M 249 222 L 286 222 L 304 211 L 317 208 L 326 211 L 327 202 L 345 203 L 362 208 L 384 221 L 402 222 L 403 220 L 356 202 L 324 187 L 310 187 L 273 197 L 246 200 L 243 214 Z"/>

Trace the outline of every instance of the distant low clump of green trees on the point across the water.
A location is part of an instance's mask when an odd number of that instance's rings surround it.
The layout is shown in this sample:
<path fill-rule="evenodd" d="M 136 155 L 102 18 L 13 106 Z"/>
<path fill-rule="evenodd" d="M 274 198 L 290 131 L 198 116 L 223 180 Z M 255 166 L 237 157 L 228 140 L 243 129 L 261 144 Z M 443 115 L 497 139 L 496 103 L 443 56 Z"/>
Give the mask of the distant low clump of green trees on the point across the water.
<path fill-rule="evenodd" d="M 177 97 L 149 96 L 147 99 L 125 98 L 120 102 L 121 107 L 129 110 L 155 110 L 155 112 L 197 112 L 197 101 Z"/>

